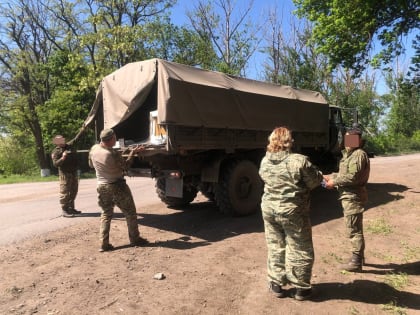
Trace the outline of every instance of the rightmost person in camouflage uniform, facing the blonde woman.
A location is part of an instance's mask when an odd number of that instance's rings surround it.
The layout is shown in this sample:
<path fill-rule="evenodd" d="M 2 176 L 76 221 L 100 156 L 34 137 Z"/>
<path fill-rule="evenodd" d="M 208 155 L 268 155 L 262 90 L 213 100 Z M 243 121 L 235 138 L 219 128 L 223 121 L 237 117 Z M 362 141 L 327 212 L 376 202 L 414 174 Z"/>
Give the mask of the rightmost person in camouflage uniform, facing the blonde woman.
<path fill-rule="evenodd" d="M 366 183 L 369 179 L 370 161 L 361 149 L 362 132 L 358 128 L 347 131 L 345 149 L 338 173 L 325 176 L 326 188 L 336 187 L 343 207 L 346 234 L 350 239 L 352 256 L 342 269 L 360 272 L 364 261 L 363 211 L 367 201 Z"/>

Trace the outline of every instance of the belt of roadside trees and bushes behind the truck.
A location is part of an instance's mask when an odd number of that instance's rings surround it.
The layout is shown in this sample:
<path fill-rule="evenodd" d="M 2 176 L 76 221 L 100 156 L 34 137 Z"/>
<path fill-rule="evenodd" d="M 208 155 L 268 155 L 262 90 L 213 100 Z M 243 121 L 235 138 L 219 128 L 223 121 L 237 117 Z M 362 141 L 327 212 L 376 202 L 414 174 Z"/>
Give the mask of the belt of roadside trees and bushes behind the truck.
<path fill-rule="evenodd" d="M 416 1 L 292 1 L 258 19 L 253 0 L 194 0 L 184 25 L 176 0 L 1 3 L 0 176 L 50 169 L 51 139 L 79 134 L 101 79 L 150 58 L 318 91 L 348 126 L 357 110 L 369 153 L 420 152 Z M 89 129 L 76 145 L 93 143 Z"/>

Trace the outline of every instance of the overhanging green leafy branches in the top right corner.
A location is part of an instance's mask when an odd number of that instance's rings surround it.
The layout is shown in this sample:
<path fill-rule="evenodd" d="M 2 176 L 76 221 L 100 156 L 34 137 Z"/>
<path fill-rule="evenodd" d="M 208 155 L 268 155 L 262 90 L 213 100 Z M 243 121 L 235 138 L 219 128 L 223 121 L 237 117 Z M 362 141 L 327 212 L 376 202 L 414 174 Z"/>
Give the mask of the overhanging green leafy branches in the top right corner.
<path fill-rule="evenodd" d="M 356 70 L 369 64 L 377 38 L 383 49 L 374 65 L 389 63 L 404 52 L 403 36 L 420 27 L 418 0 L 293 0 L 297 13 L 315 23 L 313 39 L 319 52 L 337 65 Z"/>

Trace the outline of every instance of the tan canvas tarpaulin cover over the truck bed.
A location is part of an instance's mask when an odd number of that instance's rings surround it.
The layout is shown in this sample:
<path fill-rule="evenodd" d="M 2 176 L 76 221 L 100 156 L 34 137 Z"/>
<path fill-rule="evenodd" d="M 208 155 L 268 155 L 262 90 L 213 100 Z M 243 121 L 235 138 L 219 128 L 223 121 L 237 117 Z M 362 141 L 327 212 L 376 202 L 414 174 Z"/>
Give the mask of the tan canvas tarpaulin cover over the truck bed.
<path fill-rule="evenodd" d="M 125 65 L 103 78 L 84 126 L 99 111 L 104 128 L 130 118 L 155 96 L 158 122 L 182 126 L 328 132 L 328 104 L 314 91 L 232 77 L 161 59 Z"/>

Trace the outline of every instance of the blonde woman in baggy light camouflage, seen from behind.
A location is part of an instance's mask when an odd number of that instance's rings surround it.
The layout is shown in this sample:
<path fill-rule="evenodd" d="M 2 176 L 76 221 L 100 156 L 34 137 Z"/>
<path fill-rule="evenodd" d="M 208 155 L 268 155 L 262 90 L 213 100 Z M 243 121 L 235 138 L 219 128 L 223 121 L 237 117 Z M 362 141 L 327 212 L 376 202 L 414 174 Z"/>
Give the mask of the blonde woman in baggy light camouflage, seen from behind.
<path fill-rule="evenodd" d="M 264 181 L 262 215 L 268 248 L 269 288 L 284 297 L 282 286 L 291 284 L 295 299 L 312 294 L 314 263 L 310 191 L 322 182 L 322 173 L 306 156 L 291 152 L 291 131 L 279 127 L 269 136 L 259 174 Z"/>

